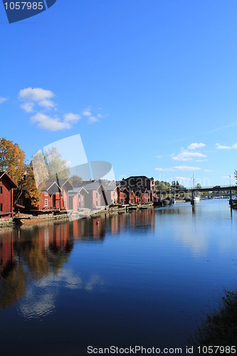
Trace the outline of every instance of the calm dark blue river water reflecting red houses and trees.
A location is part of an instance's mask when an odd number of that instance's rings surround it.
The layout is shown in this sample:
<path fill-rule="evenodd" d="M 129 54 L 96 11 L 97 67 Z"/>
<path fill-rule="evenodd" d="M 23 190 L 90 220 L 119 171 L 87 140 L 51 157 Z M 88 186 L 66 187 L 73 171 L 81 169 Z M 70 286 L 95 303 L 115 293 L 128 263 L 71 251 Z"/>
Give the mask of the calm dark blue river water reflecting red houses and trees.
<path fill-rule="evenodd" d="M 0 232 L 1 355 L 185 347 L 236 288 L 228 199 Z"/>

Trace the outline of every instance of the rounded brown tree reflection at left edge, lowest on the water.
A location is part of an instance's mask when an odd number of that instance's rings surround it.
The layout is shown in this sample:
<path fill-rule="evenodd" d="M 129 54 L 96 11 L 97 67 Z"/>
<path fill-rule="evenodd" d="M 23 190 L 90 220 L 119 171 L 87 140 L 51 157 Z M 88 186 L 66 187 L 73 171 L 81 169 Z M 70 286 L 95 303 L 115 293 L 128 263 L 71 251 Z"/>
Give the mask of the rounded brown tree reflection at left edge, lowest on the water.
<path fill-rule="evenodd" d="M 6 264 L 0 278 L 0 309 L 9 308 L 25 294 L 26 271 L 15 261 Z"/>

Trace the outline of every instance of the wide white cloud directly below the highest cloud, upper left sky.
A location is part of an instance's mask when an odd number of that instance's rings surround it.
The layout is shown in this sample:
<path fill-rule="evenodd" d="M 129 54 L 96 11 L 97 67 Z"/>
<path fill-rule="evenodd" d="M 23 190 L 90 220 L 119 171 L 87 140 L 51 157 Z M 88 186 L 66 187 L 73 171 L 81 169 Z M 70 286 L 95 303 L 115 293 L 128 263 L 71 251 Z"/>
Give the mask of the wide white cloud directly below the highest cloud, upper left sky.
<path fill-rule="evenodd" d="M 72 127 L 70 122 L 60 121 L 58 117 L 49 117 L 48 115 L 44 115 L 41 112 L 38 112 L 38 114 L 31 117 L 31 122 L 37 122 L 38 127 L 50 131 L 65 130 Z"/>

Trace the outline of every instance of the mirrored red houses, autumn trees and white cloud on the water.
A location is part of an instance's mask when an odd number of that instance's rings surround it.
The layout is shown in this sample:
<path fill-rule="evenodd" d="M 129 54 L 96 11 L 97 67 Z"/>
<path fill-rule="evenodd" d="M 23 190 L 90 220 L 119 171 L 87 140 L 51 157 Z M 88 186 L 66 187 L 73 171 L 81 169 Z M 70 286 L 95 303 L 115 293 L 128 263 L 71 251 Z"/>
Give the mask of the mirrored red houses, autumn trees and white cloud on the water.
<path fill-rule="evenodd" d="M 27 318 L 42 317 L 55 309 L 58 288 L 93 291 L 103 286 L 97 273 L 87 278 L 65 269 L 75 241 L 102 243 L 106 234 L 120 234 L 125 229 L 154 229 L 154 210 L 80 219 L 63 224 L 22 226 L 0 233 L 0 308 L 14 305 Z"/>

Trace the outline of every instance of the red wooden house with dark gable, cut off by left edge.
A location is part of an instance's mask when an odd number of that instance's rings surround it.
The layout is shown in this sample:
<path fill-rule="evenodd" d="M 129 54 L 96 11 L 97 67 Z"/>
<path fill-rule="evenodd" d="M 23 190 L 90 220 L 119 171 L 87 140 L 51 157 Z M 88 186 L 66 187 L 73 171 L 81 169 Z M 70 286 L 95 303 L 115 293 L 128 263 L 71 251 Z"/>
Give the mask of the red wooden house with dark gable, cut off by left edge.
<path fill-rule="evenodd" d="M 13 214 L 13 189 L 16 183 L 6 172 L 0 172 L 0 218 L 12 216 Z"/>

